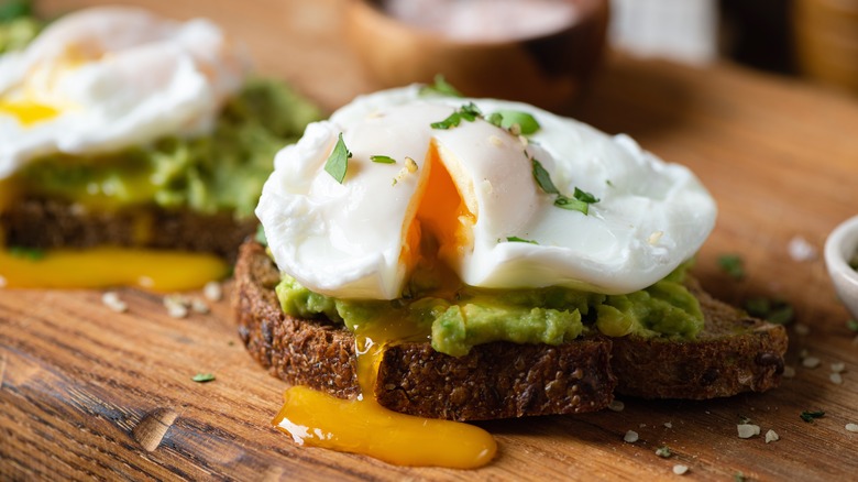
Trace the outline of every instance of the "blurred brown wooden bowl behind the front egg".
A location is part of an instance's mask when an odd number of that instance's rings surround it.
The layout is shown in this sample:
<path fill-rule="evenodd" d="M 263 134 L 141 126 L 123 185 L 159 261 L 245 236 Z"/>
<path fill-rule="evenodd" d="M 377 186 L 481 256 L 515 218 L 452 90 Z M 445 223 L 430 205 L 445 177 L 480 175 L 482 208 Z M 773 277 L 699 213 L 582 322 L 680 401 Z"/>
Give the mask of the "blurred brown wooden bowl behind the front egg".
<path fill-rule="evenodd" d="M 469 97 L 563 111 L 600 63 L 608 0 L 562 1 L 575 10 L 568 25 L 522 39 L 452 39 L 395 19 L 383 0 L 351 0 L 346 25 L 363 65 L 384 87 L 431 83 L 441 74 Z"/>

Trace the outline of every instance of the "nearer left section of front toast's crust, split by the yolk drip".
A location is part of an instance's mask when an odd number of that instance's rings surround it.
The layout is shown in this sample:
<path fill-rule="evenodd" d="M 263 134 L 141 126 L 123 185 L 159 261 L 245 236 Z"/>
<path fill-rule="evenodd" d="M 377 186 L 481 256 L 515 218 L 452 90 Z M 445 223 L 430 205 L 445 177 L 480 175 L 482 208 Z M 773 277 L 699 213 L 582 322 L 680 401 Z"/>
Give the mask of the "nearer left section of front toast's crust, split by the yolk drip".
<path fill-rule="evenodd" d="M 235 265 L 234 307 L 248 351 L 290 384 L 356 396 L 352 333 L 285 315 L 274 294 L 278 282 L 262 245 L 244 243 Z M 396 412 L 452 420 L 595 412 L 613 399 L 609 358 L 604 338 L 559 347 L 493 342 L 459 358 L 428 343 L 402 343 L 385 350 L 375 396 Z"/>

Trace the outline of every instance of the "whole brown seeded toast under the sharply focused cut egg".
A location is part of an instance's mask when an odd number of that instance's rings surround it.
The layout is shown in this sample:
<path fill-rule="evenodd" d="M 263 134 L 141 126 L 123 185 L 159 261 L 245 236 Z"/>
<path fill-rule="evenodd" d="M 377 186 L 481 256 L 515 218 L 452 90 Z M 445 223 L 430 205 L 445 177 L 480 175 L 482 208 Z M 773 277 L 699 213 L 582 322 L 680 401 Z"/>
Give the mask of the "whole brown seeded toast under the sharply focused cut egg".
<path fill-rule="evenodd" d="M 356 396 L 352 333 L 326 320 L 285 315 L 274 293 L 277 283 L 279 273 L 265 249 L 245 242 L 235 265 L 233 304 L 250 353 L 287 383 Z M 694 289 L 706 318 L 700 340 L 600 336 L 558 347 L 493 342 L 460 358 L 428 343 L 394 344 L 381 361 L 375 396 L 396 412 L 461 421 L 594 412 L 612 402 L 615 390 L 711 398 L 776 386 L 787 349 L 783 327 L 745 317 Z"/>

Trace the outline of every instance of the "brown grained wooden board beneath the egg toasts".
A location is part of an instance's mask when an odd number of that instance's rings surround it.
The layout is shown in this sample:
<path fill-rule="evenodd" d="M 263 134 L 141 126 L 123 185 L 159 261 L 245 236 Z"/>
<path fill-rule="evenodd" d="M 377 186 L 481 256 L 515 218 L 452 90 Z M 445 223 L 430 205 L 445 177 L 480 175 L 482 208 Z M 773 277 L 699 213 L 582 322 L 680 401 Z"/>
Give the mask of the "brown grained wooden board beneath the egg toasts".
<path fill-rule="evenodd" d="M 84 1 L 40 2 L 57 12 Z M 340 37 L 340 0 L 150 0 L 177 17 L 205 14 L 246 39 L 262 72 L 290 79 L 327 109 L 369 91 Z M 251 7 L 252 6 L 252 7 Z M 230 10 L 231 9 L 231 10 Z M 274 29 L 274 30 L 272 30 Z M 741 303 L 779 296 L 795 307 L 779 390 L 711 402 L 623 399 L 625 410 L 481 424 L 499 452 L 473 472 L 392 467 L 300 448 L 270 420 L 285 385 L 244 352 L 227 302 L 210 315 L 170 318 L 160 296 L 124 289 L 127 314 L 98 292 L 0 292 L 0 479 L 579 479 L 846 480 L 858 473 L 858 341 L 822 259 L 795 261 L 800 237 L 822 250 L 858 211 L 858 102 L 732 65 L 695 69 L 612 56 L 573 112 L 626 132 L 689 165 L 719 205 L 695 273 Z M 747 277 L 716 259 L 739 253 Z M 822 364 L 803 368 L 802 354 Z M 829 364 L 845 362 L 843 384 Z M 194 383 L 197 372 L 217 380 Z M 809 424 L 800 413 L 823 409 Z M 748 417 L 765 434 L 739 439 Z M 623 441 L 627 430 L 640 439 Z M 654 451 L 669 446 L 673 456 Z"/>

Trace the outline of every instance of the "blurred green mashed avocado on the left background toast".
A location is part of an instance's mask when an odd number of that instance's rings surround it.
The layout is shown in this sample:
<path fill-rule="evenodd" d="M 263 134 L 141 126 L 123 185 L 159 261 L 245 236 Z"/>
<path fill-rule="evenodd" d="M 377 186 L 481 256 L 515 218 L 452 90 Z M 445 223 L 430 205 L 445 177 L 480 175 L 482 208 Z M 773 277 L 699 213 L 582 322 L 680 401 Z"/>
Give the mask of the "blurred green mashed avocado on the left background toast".
<path fill-rule="evenodd" d="M 110 154 L 50 155 L 10 182 L 21 193 L 101 210 L 154 204 L 249 217 L 274 154 L 319 116 L 285 84 L 253 79 L 224 106 L 210 135 L 166 138 Z"/>

